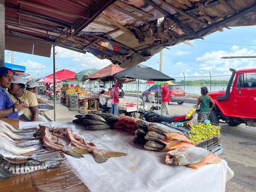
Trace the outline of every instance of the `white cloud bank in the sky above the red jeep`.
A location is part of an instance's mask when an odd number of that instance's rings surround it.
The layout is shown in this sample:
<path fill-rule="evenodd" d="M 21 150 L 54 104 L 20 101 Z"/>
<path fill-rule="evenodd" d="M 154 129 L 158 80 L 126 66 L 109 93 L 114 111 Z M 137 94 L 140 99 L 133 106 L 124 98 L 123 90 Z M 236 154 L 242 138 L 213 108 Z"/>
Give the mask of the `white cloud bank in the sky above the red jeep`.
<path fill-rule="evenodd" d="M 239 48 L 239 46 L 233 46 L 228 51 L 218 50 L 212 52 L 205 52 L 200 57 L 196 58 L 196 61 L 200 62 L 198 70 L 200 71 L 213 71 L 215 73 L 227 73 L 229 68 L 234 69 L 249 69 L 256 66 L 255 59 L 221 59 L 225 56 L 252 56 L 256 55 L 256 51 L 253 49 Z"/>

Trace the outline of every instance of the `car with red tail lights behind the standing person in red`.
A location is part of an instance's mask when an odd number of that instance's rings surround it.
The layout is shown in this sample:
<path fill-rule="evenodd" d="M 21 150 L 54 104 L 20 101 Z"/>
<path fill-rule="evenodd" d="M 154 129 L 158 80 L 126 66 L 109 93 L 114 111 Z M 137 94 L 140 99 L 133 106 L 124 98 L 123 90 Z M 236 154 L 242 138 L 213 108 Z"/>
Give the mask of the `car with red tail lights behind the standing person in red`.
<path fill-rule="evenodd" d="M 169 85 L 170 90 L 170 100 L 171 102 L 177 102 L 178 104 L 183 104 L 186 99 L 186 92 L 182 90 L 181 85 L 173 84 Z M 145 102 L 149 101 L 150 92 L 155 92 L 156 99 L 160 99 L 161 101 L 161 93 L 162 89 L 160 85 L 153 85 L 148 90 L 143 91 L 142 99 Z"/>

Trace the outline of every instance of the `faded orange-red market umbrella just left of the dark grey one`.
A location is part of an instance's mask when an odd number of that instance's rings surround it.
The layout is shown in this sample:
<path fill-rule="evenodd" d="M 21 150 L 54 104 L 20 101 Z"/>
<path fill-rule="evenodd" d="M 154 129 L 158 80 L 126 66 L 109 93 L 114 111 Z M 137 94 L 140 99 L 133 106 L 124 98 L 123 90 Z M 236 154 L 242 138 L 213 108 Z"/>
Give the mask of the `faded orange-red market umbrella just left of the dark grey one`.
<path fill-rule="evenodd" d="M 107 67 L 104 67 L 103 69 L 98 70 L 96 73 L 93 73 L 92 75 L 86 77 L 86 79 L 95 80 L 98 78 L 106 78 L 106 77 L 113 77 L 114 74 L 121 72 L 122 67 L 115 64 L 110 64 Z"/>

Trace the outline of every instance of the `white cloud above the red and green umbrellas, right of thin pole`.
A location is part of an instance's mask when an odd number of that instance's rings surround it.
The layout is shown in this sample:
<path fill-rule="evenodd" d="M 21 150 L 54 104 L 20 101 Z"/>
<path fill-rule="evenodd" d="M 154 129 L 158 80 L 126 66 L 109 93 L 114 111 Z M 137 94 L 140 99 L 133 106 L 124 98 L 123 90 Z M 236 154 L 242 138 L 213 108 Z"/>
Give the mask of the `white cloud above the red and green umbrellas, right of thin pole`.
<path fill-rule="evenodd" d="M 108 59 L 98 59 L 97 57 L 93 56 L 93 54 L 90 54 L 87 52 L 86 54 L 70 51 L 69 49 L 64 48 L 57 48 L 57 57 L 61 59 L 71 59 L 76 64 L 76 69 L 79 67 L 79 70 L 84 69 L 101 69 L 103 67 L 106 67 L 107 65 L 111 64 L 111 61 Z M 61 60 L 60 59 L 60 60 Z M 61 62 L 59 62 L 59 67 L 61 67 Z M 74 67 L 74 66 L 73 66 Z"/>

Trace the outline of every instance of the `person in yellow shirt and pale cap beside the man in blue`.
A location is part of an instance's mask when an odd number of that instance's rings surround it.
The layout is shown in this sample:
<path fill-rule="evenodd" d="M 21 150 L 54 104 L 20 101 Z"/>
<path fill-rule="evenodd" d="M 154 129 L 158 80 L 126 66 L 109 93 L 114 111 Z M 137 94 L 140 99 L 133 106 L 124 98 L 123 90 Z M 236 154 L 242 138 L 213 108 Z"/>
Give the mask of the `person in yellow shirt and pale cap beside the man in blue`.
<path fill-rule="evenodd" d="M 38 120 L 38 102 L 34 93 L 24 89 L 25 80 L 19 75 L 14 75 L 9 89 L 12 101 L 27 104 L 28 108 L 22 111 L 29 121 L 35 122 Z"/>

